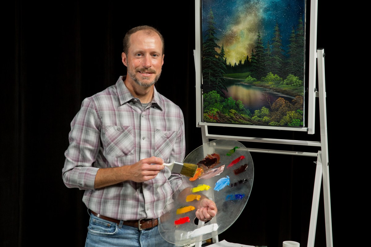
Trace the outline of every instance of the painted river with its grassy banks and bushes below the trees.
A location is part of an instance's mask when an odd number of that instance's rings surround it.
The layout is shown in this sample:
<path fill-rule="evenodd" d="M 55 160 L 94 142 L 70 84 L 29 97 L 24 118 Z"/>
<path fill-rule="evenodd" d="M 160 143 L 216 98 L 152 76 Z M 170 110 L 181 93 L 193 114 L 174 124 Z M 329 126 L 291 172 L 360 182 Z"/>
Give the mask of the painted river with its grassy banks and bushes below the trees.
<path fill-rule="evenodd" d="M 272 73 L 258 81 L 249 74 L 225 74 L 224 97 L 215 90 L 203 94 L 205 122 L 303 126 L 301 81 L 289 76 L 281 79 Z"/>

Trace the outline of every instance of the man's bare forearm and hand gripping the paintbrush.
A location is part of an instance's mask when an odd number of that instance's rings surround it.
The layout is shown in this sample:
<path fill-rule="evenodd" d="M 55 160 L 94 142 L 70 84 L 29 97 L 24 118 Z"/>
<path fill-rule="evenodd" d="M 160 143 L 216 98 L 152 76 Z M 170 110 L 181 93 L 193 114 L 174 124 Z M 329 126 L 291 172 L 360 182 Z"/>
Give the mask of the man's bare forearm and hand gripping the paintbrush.
<path fill-rule="evenodd" d="M 137 163 L 121 167 L 101 168 L 95 176 L 94 187 L 102 188 L 123 181 L 144 182 L 151 180 L 165 168 L 162 158 L 152 156 Z"/>

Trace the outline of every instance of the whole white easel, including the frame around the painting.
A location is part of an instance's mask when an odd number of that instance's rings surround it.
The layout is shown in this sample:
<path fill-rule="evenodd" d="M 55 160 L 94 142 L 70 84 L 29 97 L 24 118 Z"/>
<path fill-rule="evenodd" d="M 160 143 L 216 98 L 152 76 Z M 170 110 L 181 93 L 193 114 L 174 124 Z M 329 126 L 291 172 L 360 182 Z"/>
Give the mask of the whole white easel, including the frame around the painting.
<path fill-rule="evenodd" d="M 314 247 L 319 196 L 321 192 L 321 179 L 323 181 L 323 195 L 324 195 L 324 211 L 325 211 L 325 229 L 326 229 L 326 246 L 333 247 L 332 243 L 332 224 L 331 224 L 331 202 L 330 202 L 330 182 L 329 182 L 329 161 L 328 161 L 328 140 L 327 140 L 327 121 L 326 121 L 326 90 L 325 90 L 325 63 L 324 63 L 324 49 L 316 47 L 316 27 L 317 27 L 317 6 L 318 0 L 311 1 L 311 22 L 310 22 L 310 36 L 309 42 L 311 44 L 309 50 L 309 92 L 308 92 L 308 104 L 309 112 L 308 116 L 313 116 L 312 121 L 309 121 L 308 127 L 296 128 L 295 131 L 306 131 L 308 134 L 314 134 L 315 124 L 315 98 L 319 98 L 319 123 L 320 123 L 320 141 L 305 141 L 305 140 L 284 140 L 284 139 L 272 139 L 272 138 L 256 138 L 256 137 L 242 137 L 242 136 L 224 136 L 217 134 L 209 134 L 207 126 L 220 126 L 220 127 L 236 127 L 233 124 L 214 124 L 204 123 L 201 121 L 202 116 L 202 95 L 201 91 L 197 90 L 197 87 L 201 86 L 201 66 L 198 66 L 196 61 L 201 61 L 201 43 L 200 40 L 201 29 L 200 29 L 200 0 L 195 1 L 196 11 L 196 49 L 194 50 L 195 67 L 196 67 L 196 120 L 197 127 L 201 127 L 202 141 L 203 144 L 209 142 L 209 139 L 230 139 L 237 141 L 250 141 L 260 143 L 273 143 L 273 144 L 290 144 L 298 146 L 315 146 L 319 147 L 317 153 L 310 152 L 299 152 L 299 151 L 283 151 L 283 150 L 269 150 L 259 148 L 248 148 L 250 152 L 261 152 L 261 153 L 275 153 L 275 154 L 289 154 L 299 156 L 312 156 L 317 157 L 316 171 L 315 171 L 315 183 L 313 187 L 313 198 L 312 198 L 312 209 L 311 217 L 309 222 L 309 234 L 308 234 L 308 247 Z M 197 40 L 198 39 L 198 40 Z M 315 88 L 316 82 L 316 65 L 318 69 L 318 90 Z M 262 128 L 262 126 L 239 126 L 246 128 Z M 270 126 L 266 126 L 266 129 L 272 129 Z M 289 128 L 274 127 L 277 130 L 289 130 Z M 213 243 L 218 242 L 218 236 L 213 238 Z M 200 247 L 201 242 L 196 243 L 196 247 Z"/>

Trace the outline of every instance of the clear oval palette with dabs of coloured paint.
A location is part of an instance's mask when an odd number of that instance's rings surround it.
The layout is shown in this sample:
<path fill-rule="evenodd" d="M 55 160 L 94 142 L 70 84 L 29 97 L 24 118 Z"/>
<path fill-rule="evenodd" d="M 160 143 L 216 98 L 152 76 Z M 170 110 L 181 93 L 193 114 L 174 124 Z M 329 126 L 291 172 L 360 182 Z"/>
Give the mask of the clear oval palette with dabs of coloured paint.
<path fill-rule="evenodd" d="M 254 180 L 254 164 L 247 148 L 236 140 L 213 140 L 193 150 L 183 163 L 197 164 L 184 191 L 176 191 L 160 217 L 161 236 L 174 244 L 207 240 L 227 230 L 242 213 Z M 196 218 L 197 203 L 204 197 L 218 208 L 208 221 Z"/>

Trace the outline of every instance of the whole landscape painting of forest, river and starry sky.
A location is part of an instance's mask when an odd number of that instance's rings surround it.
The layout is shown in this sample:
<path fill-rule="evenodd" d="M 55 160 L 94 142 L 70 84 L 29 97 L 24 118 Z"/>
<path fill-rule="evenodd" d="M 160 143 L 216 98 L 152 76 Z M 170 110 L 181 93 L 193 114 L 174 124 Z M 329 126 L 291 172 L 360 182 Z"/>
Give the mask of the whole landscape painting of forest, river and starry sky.
<path fill-rule="evenodd" d="M 303 0 L 202 0 L 203 121 L 303 127 Z"/>

